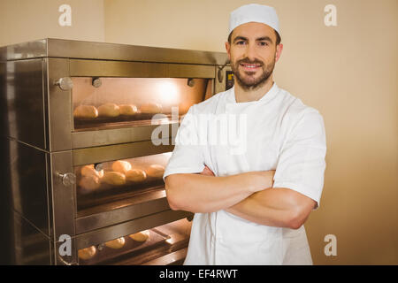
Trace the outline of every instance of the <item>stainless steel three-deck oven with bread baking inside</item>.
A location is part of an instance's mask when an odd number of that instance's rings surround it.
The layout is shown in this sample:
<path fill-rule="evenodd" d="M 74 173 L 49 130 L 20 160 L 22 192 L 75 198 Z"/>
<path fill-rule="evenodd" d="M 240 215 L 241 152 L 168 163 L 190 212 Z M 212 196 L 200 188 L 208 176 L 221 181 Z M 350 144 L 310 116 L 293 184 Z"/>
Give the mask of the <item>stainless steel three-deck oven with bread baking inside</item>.
<path fill-rule="evenodd" d="M 16 264 L 180 264 L 191 213 L 162 179 L 226 54 L 45 39 L 0 48 Z"/>

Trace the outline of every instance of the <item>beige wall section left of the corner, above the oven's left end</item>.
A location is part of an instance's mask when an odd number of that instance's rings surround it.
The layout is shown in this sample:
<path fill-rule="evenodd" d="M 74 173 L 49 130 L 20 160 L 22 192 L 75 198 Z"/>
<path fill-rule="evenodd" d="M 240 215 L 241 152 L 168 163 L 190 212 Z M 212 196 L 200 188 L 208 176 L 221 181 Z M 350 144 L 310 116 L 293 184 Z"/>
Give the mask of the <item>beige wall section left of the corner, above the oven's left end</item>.
<path fill-rule="evenodd" d="M 72 26 L 61 27 L 61 4 L 72 7 Z M 0 46 L 42 38 L 104 41 L 103 0 L 0 0 Z"/>

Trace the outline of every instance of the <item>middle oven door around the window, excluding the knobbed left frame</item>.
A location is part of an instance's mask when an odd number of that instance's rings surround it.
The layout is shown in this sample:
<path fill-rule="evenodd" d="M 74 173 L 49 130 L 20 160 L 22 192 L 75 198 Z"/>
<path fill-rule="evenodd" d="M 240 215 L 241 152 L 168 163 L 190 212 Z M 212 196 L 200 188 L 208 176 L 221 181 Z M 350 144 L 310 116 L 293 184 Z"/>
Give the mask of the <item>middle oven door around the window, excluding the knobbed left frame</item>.
<path fill-rule="evenodd" d="M 76 234 L 170 210 L 163 173 L 172 140 L 73 150 Z"/>

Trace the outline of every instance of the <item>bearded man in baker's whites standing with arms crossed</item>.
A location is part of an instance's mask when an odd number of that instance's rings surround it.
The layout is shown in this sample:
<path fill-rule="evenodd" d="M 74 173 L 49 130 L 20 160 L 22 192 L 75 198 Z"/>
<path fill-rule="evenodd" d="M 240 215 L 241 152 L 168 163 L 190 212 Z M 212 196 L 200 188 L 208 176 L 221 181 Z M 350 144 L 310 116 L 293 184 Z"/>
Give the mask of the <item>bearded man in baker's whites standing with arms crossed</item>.
<path fill-rule="evenodd" d="M 324 185 L 325 126 L 273 81 L 282 49 L 272 7 L 232 11 L 234 87 L 189 109 L 164 174 L 172 210 L 195 212 L 185 264 L 312 264 L 303 223 Z"/>

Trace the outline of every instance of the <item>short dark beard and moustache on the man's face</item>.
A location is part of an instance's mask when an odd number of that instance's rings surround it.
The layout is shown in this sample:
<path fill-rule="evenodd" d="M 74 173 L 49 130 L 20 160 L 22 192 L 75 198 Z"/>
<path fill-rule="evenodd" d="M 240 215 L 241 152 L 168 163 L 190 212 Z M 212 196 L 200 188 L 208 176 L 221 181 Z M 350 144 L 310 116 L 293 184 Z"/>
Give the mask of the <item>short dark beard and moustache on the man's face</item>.
<path fill-rule="evenodd" d="M 247 71 L 240 72 L 239 66 L 241 65 L 241 63 L 259 64 L 261 65 L 263 73 L 261 73 L 261 75 L 258 78 L 255 78 L 254 77 L 255 72 L 247 72 Z M 273 58 L 272 62 L 268 65 L 265 65 L 264 62 L 258 59 L 250 61 L 248 57 L 238 60 L 231 65 L 233 75 L 235 76 L 236 81 L 244 90 L 255 90 L 257 88 L 261 88 L 272 75 L 274 67 L 275 67 L 275 58 Z"/>

